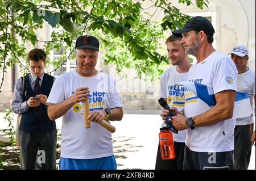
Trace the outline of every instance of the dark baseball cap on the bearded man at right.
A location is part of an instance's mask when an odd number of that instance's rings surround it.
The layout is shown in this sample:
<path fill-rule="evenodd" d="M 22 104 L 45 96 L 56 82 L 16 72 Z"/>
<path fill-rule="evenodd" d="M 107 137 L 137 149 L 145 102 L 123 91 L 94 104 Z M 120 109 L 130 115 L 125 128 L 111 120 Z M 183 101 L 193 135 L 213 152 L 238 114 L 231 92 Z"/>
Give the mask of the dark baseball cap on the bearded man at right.
<path fill-rule="evenodd" d="M 182 29 L 172 31 L 172 35 L 182 37 L 181 33 L 188 32 L 191 30 L 203 30 L 205 34 L 210 36 L 213 36 L 213 34 L 215 33 L 212 23 L 210 23 L 210 21 L 207 18 L 204 18 L 202 16 L 195 16 L 189 19 L 187 23 L 184 24 L 184 27 Z"/>

